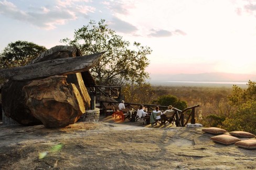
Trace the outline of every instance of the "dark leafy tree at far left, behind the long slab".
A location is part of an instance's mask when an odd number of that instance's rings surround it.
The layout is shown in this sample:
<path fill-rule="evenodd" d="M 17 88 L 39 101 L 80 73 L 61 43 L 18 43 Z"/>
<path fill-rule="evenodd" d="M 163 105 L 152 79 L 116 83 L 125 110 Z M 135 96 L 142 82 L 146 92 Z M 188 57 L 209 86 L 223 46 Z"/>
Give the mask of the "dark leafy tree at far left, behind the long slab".
<path fill-rule="evenodd" d="M 45 50 L 47 49 L 44 46 L 39 46 L 33 42 L 11 42 L 0 54 L 0 68 L 7 69 L 26 65 Z"/>

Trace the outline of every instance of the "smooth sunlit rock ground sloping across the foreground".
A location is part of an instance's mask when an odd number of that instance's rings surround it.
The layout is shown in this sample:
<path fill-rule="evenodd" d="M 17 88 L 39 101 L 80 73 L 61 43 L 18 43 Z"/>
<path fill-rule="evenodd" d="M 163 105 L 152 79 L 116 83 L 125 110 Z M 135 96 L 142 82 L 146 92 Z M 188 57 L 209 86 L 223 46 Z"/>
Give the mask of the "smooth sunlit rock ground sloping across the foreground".
<path fill-rule="evenodd" d="M 256 168 L 256 150 L 214 143 L 214 135 L 201 129 L 151 127 L 111 116 L 54 129 L 0 126 L 0 169 Z M 60 143 L 60 151 L 50 152 Z"/>

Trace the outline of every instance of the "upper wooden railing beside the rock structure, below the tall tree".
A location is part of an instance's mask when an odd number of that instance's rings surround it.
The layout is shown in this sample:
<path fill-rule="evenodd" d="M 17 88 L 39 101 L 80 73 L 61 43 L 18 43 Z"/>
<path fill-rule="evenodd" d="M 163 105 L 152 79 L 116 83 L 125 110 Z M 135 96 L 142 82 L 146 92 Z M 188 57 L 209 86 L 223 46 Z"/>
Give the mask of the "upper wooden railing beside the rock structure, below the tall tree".
<path fill-rule="evenodd" d="M 121 98 L 121 87 L 120 86 L 99 86 L 88 87 L 90 92 L 94 96 L 106 96 L 114 99 Z"/>

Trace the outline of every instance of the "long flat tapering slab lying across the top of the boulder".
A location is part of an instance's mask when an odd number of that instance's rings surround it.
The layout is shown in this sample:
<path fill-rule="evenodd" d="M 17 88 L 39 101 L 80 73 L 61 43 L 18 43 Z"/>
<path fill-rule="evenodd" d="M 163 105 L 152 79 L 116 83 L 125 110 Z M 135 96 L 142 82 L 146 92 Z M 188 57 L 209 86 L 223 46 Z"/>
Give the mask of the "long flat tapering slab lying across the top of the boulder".
<path fill-rule="evenodd" d="M 99 64 L 104 53 L 105 52 L 99 52 L 72 58 L 47 60 L 21 67 L 2 69 L 0 70 L 0 76 L 9 80 L 24 81 L 58 74 L 68 75 L 77 72 L 84 72 Z"/>

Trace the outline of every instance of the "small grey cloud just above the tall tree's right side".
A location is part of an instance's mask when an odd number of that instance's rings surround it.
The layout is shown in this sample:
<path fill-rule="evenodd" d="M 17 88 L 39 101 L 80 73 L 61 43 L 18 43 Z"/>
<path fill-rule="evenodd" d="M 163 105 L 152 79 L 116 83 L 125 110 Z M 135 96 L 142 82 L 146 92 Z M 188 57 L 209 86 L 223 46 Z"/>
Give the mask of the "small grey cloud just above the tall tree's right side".
<path fill-rule="evenodd" d="M 133 33 L 137 30 L 137 28 L 129 22 L 125 22 L 116 17 L 109 21 L 108 25 L 117 32 Z"/>

